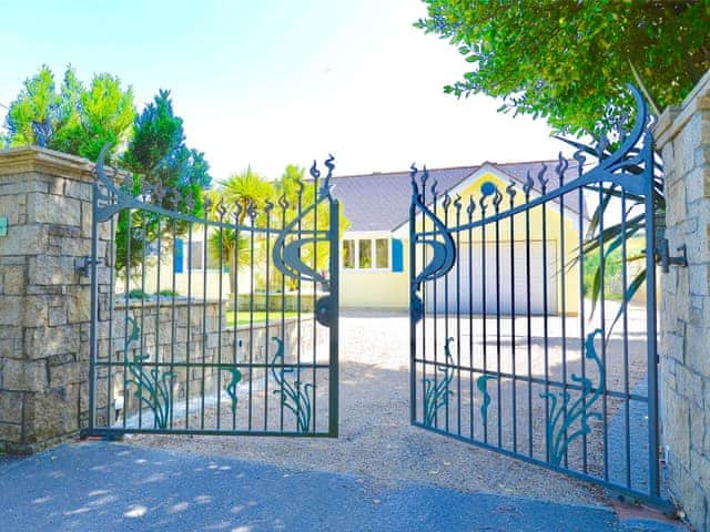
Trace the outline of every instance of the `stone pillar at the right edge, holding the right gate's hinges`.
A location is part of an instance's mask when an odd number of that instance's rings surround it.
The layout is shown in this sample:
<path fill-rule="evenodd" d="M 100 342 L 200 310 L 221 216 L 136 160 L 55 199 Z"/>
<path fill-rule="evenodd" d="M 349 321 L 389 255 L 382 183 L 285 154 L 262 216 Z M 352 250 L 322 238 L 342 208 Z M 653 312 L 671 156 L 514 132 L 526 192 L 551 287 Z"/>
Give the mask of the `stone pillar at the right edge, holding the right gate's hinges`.
<path fill-rule="evenodd" d="M 688 267 L 661 275 L 661 420 L 671 494 L 710 530 L 710 72 L 655 127 L 666 172 L 666 236 Z"/>

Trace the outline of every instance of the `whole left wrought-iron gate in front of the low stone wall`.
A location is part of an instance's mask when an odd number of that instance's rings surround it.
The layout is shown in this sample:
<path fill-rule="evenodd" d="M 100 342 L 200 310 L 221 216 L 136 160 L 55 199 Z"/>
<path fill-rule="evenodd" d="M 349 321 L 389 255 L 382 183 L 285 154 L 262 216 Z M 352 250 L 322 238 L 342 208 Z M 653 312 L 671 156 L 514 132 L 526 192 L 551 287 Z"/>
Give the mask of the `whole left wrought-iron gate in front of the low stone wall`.
<path fill-rule="evenodd" d="M 103 155 L 87 433 L 337 436 L 333 157 L 276 202 L 196 205 Z"/>

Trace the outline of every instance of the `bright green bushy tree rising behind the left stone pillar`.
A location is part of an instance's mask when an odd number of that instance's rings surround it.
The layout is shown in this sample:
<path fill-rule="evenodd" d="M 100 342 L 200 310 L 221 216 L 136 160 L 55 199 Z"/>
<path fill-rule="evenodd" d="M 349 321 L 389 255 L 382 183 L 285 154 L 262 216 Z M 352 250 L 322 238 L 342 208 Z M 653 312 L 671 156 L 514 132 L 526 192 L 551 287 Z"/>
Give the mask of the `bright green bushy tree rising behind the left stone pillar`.
<path fill-rule="evenodd" d="M 57 91 L 54 74 L 43 65 L 9 106 L 7 142 L 95 160 L 106 143 L 113 151 L 128 140 L 134 116 L 133 91 L 116 76 L 97 74 L 84 88 L 69 66 Z"/>

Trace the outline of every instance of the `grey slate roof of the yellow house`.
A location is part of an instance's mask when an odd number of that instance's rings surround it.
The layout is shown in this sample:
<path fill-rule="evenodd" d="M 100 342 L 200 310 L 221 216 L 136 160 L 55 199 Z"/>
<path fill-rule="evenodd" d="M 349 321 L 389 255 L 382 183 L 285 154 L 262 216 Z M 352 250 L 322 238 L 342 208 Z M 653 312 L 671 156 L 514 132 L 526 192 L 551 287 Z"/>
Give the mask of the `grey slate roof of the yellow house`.
<path fill-rule="evenodd" d="M 439 196 L 456 188 L 468 177 L 484 166 L 489 166 L 500 177 L 508 177 L 518 184 L 525 183 L 528 171 L 535 180 L 534 190 L 539 191 L 537 174 L 547 165 L 545 174 L 549 178 L 548 192 L 559 186 L 557 174 L 554 172 L 557 160 L 534 161 L 520 163 L 484 163 L 473 166 L 456 166 L 450 168 L 429 168 L 427 186 L 437 182 Z M 569 162 L 567 178 L 571 178 L 571 170 L 577 167 L 576 161 Z M 334 176 L 332 194 L 339 200 L 349 219 L 348 231 L 394 231 L 404 224 L 409 216 L 412 200 L 409 171 L 373 173 L 364 175 Z M 565 207 L 579 213 L 579 195 L 565 195 Z"/>

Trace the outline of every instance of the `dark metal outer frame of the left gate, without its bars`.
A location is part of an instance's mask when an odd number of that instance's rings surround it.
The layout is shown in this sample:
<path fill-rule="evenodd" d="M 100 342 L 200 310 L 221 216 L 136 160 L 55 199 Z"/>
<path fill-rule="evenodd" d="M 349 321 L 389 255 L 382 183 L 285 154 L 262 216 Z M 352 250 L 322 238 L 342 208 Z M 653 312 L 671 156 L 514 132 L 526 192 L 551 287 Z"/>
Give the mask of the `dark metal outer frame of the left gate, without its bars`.
<path fill-rule="evenodd" d="M 315 323 L 325 327 L 328 330 L 328 423 L 327 423 L 327 432 L 316 432 L 316 431 L 258 431 L 258 430 L 224 430 L 224 429 L 150 429 L 140 427 L 138 429 L 132 429 L 128 427 L 100 427 L 97 424 L 97 366 L 98 366 L 98 355 L 99 355 L 99 342 L 98 342 L 98 323 L 99 320 L 99 268 L 98 266 L 101 264 L 101 258 L 98 257 L 98 241 L 99 241 L 99 224 L 105 223 L 114 215 L 119 215 L 121 212 L 124 212 L 126 208 L 135 208 L 141 211 L 149 211 L 156 213 L 159 215 L 163 215 L 169 217 L 170 219 L 182 219 L 189 223 L 196 223 L 203 225 L 220 225 L 224 227 L 230 227 L 231 224 L 225 224 L 222 221 L 217 224 L 211 223 L 209 218 L 199 218 L 192 215 L 187 215 L 181 213 L 179 211 L 168 211 L 161 206 L 154 204 L 148 204 L 141 202 L 138 197 L 131 196 L 123 192 L 120 187 L 118 187 L 114 183 L 114 180 L 106 175 L 104 168 L 104 161 L 110 149 L 109 144 L 105 144 L 99 155 L 99 158 L 95 164 L 95 178 L 93 182 L 93 194 L 92 194 L 92 217 L 91 217 L 91 257 L 87 257 L 84 267 L 89 270 L 89 275 L 91 277 L 90 280 L 90 289 L 91 289 L 91 318 L 90 318 L 90 355 L 89 355 L 89 419 L 88 427 L 80 431 L 80 436 L 82 438 L 88 437 L 102 437 L 105 439 L 115 439 L 120 438 L 125 433 L 151 433 L 151 434 L 202 434 L 202 436 L 260 436 L 260 437 L 298 437 L 298 438 L 337 438 L 338 437 L 338 423 L 339 423 L 339 334 L 338 334 L 338 325 L 339 325 L 339 215 L 341 215 L 341 204 L 339 201 L 334 198 L 331 194 L 331 178 L 333 176 L 333 170 L 335 167 L 334 156 L 329 155 L 327 160 L 325 160 L 324 164 L 327 167 L 327 174 L 320 183 L 321 172 L 317 168 L 316 161 L 313 161 L 313 165 L 310 170 L 311 174 L 311 183 L 314 186 L 314 201 L 311 205 L 306 206 L 302 209 L 301 200 L 298 201 L 298 211 L 297 216 L 290 222 L 285 227 L 282 227 L 281 231 L 274 231 L 272 236 L 276 237 L 276 241 L 273 246 L 272 254 L 267 256 L 266 260 L 271 260 L 273 267 L 277 268 L 282 275 L 292 277 L 298 280 L 298 286 L 301 287 L 302 282 L 312 282 L 314 283 L 314 287 L 316 284 L 321 284 L 322 286 L 327 287 L 328 294 L 324 295 L 317 299 L 314 298 L 313 301 L 313 319 Z M 114 170 L 113 177 L 115 178 L 116 171 Z M 304 186 L 303 183 L 298 182 L 298 197 L 301 198 L 301 194 L 303 193 Z M 105 192 L 104 192 L 105 191 Z M 102 206 L 102 202 L 105 204 Z M 280 200 L 280 206 L 284 209 L 288 206 L 285 197 Z M 305 218 L 305 216 L 311 212 L 317 212 L 317 207 L 325 203 L 328 205 L 328 216 L 329 224 L 326 229 L 318 229 L 317 226 L 313 229 L 303 229 L 301 227 L 301 221 Z M 253 207 L 253 205 L 252 205 Z M 271 205 L 267 208 L 273 207 Z M 317 221 L 317 214 L 316 218 Z M 297 228 L 296 228 L 297 227 Z M 234 228 L 237 231 L 245 229 L 244 227 L 234 225 Z M 245 229 L 248 231 L 248 229 Z M 252 233 L 254 231 L 252 229 Z M 267 233 L 268 234 L 268 233 Z M 286 237 L 291 236 L 293 239 L 288 244 L 286 244 Z M 301 246 L 306 246 L 308 244 L 315 244 L 317 242 L 328 242 L 328 268 L 329 276 L 326 278 L 320 272 L 316 270 L 316 267 L 310 267 L 303 260 L 301 260 Z M 111 235 L 111 243 L 115 250 L 115 235 Z M 205 242 L 206 246 L 206 242 Z M 112 256 L 115 256 L 114 250 L 111 252 Z M 111 264 L 106 267 L 114 267 L 114 264 Z M 222 273 L 220 274 L 222 275 Z M 113 287 L 111 288 L 113 289 Z M 160 289 L 160 287 L 159 287 Z M 301 290 L 301 288 L 300 288 Z M 252 295 L 253 296 L 253 295 Z M 267 297 L 268 305 L 268 297 Z M 236 309 L 235 309 L 236 311 Z M 126 301 L 126 314 L 128 314 L 128 301 Z M 301 314 L 298 314 L 298 320 L 301 320 Z M 235 318 L 236 319 L 236 318 Z M 235 321 L 236 323 L 236 321 Z M 252 324 L 253 325 L 253 324 Z M 126 331 L 128 335 L 128 331 Z M 236 341 L 236 337 L 234 339 Z M 268 341 L 268 340 L 267 340 Z M 314 330 L 314 349 L 316 345 L 315 330 Z M 112 354 L 110 354 L 112 356 Z M 116 364 L 116 366 L 121 366 Z M 276 365 L 270 364 L 268 360 L 265 360 L 261 366 L 264 367 L 265 371 L 271 366 L 277 367 Z M 295 366 L 295 365 L 292 365 Z M 314 368 L 315 369 L 315 368 Z M 124 369 L 126 370 L 126 369 Z M 128 391 L 126 391 L 128 393 Z M 315 391 L 314 391 L 315 393 Z M 172 400 L 172 399 L 171 399 Z M 250 393 L 251 400 L 251 393 Z M 315 416 L 315 407 L 313 411 Z M 125 416 L 125 413 L 124 413 Z"/>

